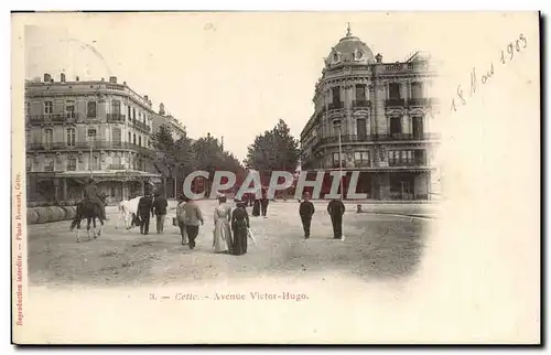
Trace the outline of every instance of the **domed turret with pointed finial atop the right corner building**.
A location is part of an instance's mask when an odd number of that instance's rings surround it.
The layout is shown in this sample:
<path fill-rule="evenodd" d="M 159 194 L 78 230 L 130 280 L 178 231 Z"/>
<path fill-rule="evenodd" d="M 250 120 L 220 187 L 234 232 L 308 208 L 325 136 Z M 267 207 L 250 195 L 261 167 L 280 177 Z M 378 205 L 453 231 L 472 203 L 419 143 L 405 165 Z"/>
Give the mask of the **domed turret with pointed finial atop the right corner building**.
<path fill-rule="evenodd" d="M 346 31 L 346 36 L 331 50 L 329 55 L 325 58 L 326 67 L 334 67 L 344 64 L 374 64 L 375 55 L 371 50 L 361 42 L 357 36 L 354 36 L 350 31 L 350 24 Z"/>

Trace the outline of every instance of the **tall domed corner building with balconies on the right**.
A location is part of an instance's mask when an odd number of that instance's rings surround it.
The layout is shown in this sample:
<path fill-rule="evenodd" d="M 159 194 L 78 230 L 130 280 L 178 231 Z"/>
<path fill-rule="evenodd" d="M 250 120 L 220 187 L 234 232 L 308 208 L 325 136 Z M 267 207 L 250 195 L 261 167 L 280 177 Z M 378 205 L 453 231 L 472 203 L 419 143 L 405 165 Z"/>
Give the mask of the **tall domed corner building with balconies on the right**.
<path fill-rule="evenodd" d="M 350 171 L 359 171 L 356 191 L 368 198 L 431 200 L 437 183 L 432 162 L 439 136 L 430 129 L 435 76 L 426 54 L 383 63 L 348 29 L 315 85 L 314 114 L 301 133 L 301 169 L 342 169 L 345 197 Z M 331 190 L 326 178 L 322 193 Z"/>

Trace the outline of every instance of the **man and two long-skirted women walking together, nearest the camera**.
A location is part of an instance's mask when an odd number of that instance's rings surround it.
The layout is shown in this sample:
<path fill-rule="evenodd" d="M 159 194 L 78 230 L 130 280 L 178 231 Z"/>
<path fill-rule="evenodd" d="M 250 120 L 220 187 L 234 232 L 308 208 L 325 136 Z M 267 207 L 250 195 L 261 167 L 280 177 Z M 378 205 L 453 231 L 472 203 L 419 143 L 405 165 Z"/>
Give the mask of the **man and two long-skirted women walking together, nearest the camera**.
<path fill-rule="evenodd" d="M 215 252 L 231 255 L 247 254 L 247 238 L 249 236 L 249 214 L 244 202 L 237 202 L 231 211 L 226 196 L 218 197 L 218 206 L 214 209 L 213 248 Z M 193 200 L 186 196 L 179 198 L 176 220 L 182 235 L 182 245 L 188 244 L 195 248 L 195 238 L 199 226 L 205 224 L 203 213 Z"/>

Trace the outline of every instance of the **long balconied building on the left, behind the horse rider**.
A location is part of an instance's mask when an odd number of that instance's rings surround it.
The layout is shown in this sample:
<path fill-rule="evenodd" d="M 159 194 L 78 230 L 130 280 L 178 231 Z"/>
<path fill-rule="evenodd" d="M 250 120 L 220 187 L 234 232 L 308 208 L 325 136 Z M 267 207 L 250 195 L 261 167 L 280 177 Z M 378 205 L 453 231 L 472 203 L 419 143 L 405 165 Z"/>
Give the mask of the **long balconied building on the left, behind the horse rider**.
<path fill-rule="evenodd" d="M 75 203 L 93 176 L 108 203 L 141 195 L 160 182 L 150 149 L 151 100 L 127 83 L 25 83 L 28 201 Z"/>

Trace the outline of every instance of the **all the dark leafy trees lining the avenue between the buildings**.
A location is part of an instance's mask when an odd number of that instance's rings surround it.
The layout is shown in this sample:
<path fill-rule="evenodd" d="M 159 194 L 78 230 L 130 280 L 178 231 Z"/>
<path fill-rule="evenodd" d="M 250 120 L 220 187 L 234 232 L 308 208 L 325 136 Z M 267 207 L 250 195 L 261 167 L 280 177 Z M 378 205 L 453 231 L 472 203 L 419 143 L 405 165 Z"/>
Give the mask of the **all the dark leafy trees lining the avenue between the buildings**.
<path fill-rule="evenodd" d="M 154 166 L 165 179 L 181 181 L 187 174 L 196 170 L 209 172 L 210 179 L 215 171 L 231 171 L 236 173 L 237 184 L 246 176 L 247 169 L 260 172 L 262 183 L 267 184 L 272 171 L 294 172 L 299 164 L 299 141 L 290 133 L 289 126 L 279 122 L 271 130 L 256 137 L 252 144 L 248 147 L 247 158 L 244 163 L 228 151 L 218 139 L 207 136 L 192 139 L 184 135 L 174 140 L 169 126 L 161 126 L 160 130 L 152 136 L 152 148 L 158 152 Z M 212 181 L 210 181 L 212 182 Z M 209 193 L 210 182 L 206 184 Z"/>

